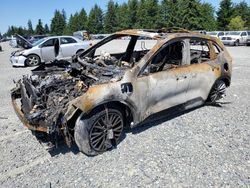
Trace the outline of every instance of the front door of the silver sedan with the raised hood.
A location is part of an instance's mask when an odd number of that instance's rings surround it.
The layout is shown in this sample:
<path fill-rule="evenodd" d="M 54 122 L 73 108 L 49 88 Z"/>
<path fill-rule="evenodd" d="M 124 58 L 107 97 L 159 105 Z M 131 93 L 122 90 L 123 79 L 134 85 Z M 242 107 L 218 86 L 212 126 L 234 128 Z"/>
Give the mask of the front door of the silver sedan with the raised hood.
<path fill-rule="evenodd" d="M 55 59 L 54 44 L 58 38 L 49 38 L 41 44 L 41 56 L 43 61 L 53 61 Z"/>

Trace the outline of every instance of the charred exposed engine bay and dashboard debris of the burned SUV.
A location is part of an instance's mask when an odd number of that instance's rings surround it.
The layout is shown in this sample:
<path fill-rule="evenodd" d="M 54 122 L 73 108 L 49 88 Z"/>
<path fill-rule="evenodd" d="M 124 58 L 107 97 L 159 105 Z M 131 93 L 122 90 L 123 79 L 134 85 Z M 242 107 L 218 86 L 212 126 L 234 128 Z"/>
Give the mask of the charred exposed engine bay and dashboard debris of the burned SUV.
<path fill-rule="evenodd" d="M 69 101 L 85 93 L 91 85 L 115 82 L 130 66 L 103 53 L 98 57 L 73 57 L 72 62 L 56 60 L 32 70 L 23 76 L 12 90 L 12 98 L 21 98 L 24 118 L 48 133 L 64 129 L 63 114 Z M 67 126 L 66 126 L 67 127 Z"/>

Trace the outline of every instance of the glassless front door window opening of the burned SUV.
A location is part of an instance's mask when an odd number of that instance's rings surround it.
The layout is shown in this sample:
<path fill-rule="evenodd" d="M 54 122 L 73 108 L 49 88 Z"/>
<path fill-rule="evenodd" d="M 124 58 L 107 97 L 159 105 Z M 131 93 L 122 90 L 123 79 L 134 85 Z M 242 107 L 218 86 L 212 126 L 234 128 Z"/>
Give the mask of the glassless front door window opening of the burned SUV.
<path fill-rule="evenodd" d="M 157 55 L 153 57 L 143 74 L 160 72 L 181 66 L 183 47 L 183 41 L 176 41 L 164 46 Z"/>

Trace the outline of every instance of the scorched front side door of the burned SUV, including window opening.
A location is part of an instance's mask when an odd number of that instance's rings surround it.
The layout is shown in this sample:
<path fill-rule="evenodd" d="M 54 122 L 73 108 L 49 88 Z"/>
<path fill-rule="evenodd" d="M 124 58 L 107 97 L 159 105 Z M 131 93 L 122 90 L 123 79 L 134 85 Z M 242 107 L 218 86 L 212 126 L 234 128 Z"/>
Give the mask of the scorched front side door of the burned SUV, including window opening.
<path fill-rule="evenodd" d="M 136 80 L 147 87 L 144 103 L 144 117 L 186 102 L 189 85 L 189 68 L 186 64 L 186 42 L 175 40 L 164 45 L 152 58 L 148 66 Z"/>

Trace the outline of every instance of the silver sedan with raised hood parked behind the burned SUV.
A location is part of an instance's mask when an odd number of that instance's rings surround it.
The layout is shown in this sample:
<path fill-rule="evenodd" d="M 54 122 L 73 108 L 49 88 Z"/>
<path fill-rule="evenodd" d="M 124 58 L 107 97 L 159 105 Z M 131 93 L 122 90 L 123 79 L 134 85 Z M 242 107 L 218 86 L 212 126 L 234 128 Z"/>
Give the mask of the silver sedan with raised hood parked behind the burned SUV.
<path fill-rule="evenodd" d="M 89 41 L 84 42 L 72 36 L 51 36 L 31 44 L 19 35 L 18 41 L 24 49 L 11 54 L 10 62 L 13 66 L 37 66 L 41 62 L 55 60 L 54 46 L 56 44 L 60 46 L 60 58 L 70 58 L 92 45 Z"/>

